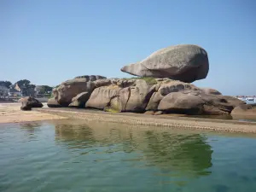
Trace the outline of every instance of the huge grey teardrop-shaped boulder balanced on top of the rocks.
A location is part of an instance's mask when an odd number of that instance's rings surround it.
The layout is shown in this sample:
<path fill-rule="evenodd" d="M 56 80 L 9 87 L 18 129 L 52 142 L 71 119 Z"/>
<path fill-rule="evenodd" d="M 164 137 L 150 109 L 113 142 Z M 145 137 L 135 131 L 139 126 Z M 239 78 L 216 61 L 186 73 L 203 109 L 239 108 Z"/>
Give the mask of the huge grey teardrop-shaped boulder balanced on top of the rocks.
<path fill-rule="evenodd" d="M 207 77 L 209 61 L 205 49 L 193 44 L 181 44 L 157 50 L 143 61 L 122 67 L 121 71 L 140 77 L 191 83 Z"/>

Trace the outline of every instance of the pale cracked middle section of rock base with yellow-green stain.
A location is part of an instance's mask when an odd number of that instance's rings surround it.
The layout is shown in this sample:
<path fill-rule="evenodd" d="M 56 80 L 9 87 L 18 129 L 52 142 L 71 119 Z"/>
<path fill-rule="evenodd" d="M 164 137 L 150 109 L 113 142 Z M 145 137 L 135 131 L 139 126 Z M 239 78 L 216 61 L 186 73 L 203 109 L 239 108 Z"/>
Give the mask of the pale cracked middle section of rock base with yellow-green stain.
<path fill-rule="evenodd" d="M 95 82 L 99 86 L 99 82 Z M 153 84 L 143 79 L 110 79 L 101 81 L 103 86 L 96 88 L 86 108 L 113 110 L 116 112 L 143 112 L 154 89 Z"/>

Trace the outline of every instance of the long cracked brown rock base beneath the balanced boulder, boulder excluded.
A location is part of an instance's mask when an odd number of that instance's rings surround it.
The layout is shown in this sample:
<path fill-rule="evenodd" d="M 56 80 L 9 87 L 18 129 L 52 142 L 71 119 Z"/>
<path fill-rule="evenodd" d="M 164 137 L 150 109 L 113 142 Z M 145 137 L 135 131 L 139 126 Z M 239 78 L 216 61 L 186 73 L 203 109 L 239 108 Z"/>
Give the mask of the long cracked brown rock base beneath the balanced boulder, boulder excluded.
<path fill-rule="evenodd" d="M 172 79 L 73 79 L 54 90 L 63 107 L 96 108 L 111 112 L 226 114 L 244 102 Z M 151 112 L 148 112 L 151 113 Z"/>

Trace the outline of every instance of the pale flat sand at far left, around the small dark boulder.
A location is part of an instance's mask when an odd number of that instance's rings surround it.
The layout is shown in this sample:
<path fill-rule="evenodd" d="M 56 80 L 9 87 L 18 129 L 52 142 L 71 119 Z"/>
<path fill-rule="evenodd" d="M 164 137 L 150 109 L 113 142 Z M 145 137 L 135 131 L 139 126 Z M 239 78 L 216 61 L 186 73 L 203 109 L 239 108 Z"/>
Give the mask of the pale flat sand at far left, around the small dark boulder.
<path fill-rule="evenodd" d="M 47 108 L 46 103 L 44 108 Z M 0 103 L 0 123 L 19 123 L 26 121 L 67 119 L 55 114 L 41 113 L 38 111 L 21 111 L 20 102 Z"/>

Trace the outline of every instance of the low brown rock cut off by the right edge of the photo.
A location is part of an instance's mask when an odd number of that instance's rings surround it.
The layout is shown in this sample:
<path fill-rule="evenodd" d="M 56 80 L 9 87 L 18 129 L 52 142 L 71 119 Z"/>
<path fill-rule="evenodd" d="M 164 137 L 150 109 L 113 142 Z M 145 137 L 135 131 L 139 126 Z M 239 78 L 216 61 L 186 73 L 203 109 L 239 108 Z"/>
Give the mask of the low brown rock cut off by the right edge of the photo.
<path fill-rule="evenodd" d="M 242 104 L 234 108 L 231 115 L 233 116 L 253 116 L 256 117 L 256 105 Z"/>

